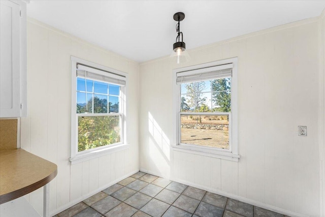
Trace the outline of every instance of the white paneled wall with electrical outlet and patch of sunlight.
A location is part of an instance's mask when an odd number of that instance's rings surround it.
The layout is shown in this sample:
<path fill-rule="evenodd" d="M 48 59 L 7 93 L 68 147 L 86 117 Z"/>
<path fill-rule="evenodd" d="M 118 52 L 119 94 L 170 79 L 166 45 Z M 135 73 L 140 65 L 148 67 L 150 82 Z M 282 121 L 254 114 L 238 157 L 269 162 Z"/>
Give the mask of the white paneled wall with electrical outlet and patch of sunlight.
<path fill-rule="evenodd" d="M 140 168 L 290 215 L 320 215 L 318 18 L 140 64 Z M 172 69 L 238 57 L 239 162 L 173 151 Z M 153 82 L 155 81 L 155 82 Z M 298 136 L 298 126 L 308 136 Z"/>

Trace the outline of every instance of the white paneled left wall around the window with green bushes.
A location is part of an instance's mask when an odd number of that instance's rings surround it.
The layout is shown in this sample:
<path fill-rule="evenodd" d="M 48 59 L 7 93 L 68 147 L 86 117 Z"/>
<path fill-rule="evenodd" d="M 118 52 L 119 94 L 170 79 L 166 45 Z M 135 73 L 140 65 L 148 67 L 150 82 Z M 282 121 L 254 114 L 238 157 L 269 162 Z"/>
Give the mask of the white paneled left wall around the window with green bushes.
<path fill-rule="evenodd" d="M 130 148 L 70 165 L 71 69 L 76 56 L 128 74 L 127 137 Z M 38 21 L 27 22 L 27 108 L 21 118 L 21 147 L 58 167 L 50 183 L 50 212 L 56 214 L 139 171 L 139 64 Z M 42 213 L 43 190 L 27 196 Z"/>

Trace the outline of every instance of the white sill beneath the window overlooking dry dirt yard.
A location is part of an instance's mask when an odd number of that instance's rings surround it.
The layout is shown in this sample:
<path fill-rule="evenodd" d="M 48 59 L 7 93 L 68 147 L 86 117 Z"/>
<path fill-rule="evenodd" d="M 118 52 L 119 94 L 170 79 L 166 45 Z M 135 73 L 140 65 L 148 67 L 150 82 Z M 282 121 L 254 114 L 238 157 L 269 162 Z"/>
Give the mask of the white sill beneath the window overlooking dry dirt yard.
<path fill-rule="evenodd" d="M 233 154 L 231 152 L 222 152 L 222 151 L 216 151 L 216 150 L 207 150 L 200 147 L 190 147 L 190 146 L 172 146 L 174 151 L 177 152 L 185 152 L 185 153 L 191 153 L 196 155 L 202 155 L 212 158 L 219 158 L 224 160 L 230 160 L 230 161 L 236 161 L 238 162 L 240 155 Z"/>

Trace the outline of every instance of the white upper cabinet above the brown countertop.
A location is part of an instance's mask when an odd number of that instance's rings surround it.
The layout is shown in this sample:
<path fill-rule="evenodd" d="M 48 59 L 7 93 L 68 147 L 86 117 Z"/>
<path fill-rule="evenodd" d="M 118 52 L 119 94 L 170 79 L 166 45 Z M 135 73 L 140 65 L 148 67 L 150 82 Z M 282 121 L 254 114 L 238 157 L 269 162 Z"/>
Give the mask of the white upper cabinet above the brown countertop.
<path fill-rule="evenodd" d="M 0 1 L 0 117 L 26 116 L 26 5 Z"/>

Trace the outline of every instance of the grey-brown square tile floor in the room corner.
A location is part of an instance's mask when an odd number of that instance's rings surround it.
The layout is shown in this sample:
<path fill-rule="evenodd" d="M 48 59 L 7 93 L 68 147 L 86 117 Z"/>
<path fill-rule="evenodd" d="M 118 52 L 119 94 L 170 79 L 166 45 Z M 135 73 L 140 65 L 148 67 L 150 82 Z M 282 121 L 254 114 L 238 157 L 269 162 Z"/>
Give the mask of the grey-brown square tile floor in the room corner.
<path fill-rule="evenodd" d="M 168 179 L 137 172 L 55 217 L 284 215 Z"/>

